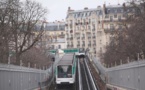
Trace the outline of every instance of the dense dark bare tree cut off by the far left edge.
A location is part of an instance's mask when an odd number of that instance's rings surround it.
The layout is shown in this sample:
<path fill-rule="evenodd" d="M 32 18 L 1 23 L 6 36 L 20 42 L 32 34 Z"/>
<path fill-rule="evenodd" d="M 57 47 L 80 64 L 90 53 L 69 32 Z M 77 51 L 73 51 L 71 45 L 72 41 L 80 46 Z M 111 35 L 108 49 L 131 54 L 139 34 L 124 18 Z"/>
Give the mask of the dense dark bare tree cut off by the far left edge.
<path fill-rule="evenodd" d="M 1 62 L 6 62 L 9 55 L 9 42 L 12 35 L 11 22 L 14 18 L 18 4 L 16 0 L 0 1 L 0 57 Z"/>

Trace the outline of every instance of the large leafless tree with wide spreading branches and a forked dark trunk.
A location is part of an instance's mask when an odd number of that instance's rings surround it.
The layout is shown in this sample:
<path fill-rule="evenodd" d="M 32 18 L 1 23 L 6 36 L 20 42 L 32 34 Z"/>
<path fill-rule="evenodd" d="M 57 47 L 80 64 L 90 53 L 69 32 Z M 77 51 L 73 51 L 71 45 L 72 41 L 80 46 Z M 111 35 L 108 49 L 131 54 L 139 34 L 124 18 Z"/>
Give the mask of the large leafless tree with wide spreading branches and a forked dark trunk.
<path fill-rule="evenodd" d="M 4 5 L 1 7 L 3 11 L 1 17 L 4 19 L 0 25 L 4 28 L 0 30 L 3 30 L 2 33 L 5 34 L 0 34 L 0 36 L 6 42 L 6 44 L 2 42 L 4 44 L 2 48 L 7 48 L 7 55 L 10 51 L 14 51 L 16 63 L 19 64 L 22 53 L 32 48 L 43 35 L 43 20 L 47 10 L 41 4 L 31 0 L 23 2 L 3 0 L 1 3 Z"/>

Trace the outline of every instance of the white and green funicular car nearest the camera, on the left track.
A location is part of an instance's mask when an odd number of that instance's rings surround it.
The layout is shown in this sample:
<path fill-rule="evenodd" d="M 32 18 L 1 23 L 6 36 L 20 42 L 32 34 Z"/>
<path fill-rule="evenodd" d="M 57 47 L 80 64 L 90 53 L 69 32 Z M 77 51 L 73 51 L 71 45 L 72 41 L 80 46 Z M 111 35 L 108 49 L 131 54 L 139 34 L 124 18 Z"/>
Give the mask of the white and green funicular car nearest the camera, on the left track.
<path fill-rule="evenodd" d="M 56 85 L 74 84 L 76 75 L 76 57 L 74 53 L 64 54 L 55 68 Z"/>

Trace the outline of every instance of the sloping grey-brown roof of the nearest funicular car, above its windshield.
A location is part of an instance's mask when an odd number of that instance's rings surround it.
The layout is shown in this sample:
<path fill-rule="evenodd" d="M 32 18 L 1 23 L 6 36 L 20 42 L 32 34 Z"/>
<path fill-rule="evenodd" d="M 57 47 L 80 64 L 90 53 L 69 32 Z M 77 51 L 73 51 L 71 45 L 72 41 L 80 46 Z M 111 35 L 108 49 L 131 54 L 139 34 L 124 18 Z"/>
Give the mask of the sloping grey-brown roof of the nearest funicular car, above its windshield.
<path fill-rule="evenodd" d="M 72 65 L 73 59 L 74 53 L 65 54 L 58 62 L 58 65 Z"/>

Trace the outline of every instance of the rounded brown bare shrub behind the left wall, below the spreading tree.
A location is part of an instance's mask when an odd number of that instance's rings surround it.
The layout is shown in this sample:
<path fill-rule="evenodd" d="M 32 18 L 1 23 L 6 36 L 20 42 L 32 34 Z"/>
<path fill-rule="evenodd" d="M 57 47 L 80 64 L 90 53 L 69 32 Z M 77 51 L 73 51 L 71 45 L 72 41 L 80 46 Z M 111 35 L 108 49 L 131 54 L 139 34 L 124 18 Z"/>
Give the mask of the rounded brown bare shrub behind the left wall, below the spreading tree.
<path fill-rule="evenodd" d="M 21 60 L 23 61 L 24 66 L 28 66 L 30 63 L 30 67 L 43 67 L 43 66 L 50 66 L 51 65 L 51 58 L 40 48 L 33 47 L 21 55 Z"/>

